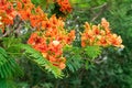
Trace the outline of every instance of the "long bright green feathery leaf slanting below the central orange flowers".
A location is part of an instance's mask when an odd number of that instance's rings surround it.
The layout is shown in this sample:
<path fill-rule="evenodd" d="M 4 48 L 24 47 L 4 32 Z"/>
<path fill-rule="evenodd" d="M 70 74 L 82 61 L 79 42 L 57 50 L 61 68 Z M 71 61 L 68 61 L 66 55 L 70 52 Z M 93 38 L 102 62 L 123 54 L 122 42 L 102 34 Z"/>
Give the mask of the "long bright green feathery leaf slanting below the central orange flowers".
<path fill-rule="evenodd" d="M 19 45 L 22 50 L 24 50 L 25 56 L 32 62 L 36 63 L 43 70 L 47 69 L 51 72 L 56 78 L 61 78 L 63 73 L 59 68 L 53 66 L 46 58 L 42 56 L 42 54 L 30 45 L 21 44 Z"/>

